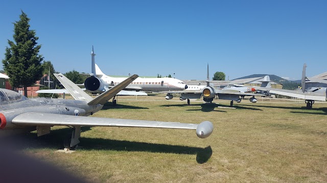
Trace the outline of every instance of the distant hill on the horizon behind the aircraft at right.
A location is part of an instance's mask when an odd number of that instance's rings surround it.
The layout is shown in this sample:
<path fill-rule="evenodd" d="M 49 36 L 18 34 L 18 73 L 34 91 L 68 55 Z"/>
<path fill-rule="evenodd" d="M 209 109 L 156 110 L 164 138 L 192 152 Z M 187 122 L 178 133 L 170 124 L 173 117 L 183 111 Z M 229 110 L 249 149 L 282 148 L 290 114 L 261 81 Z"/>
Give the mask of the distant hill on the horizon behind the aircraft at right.
<path fill-rule="evenodd" d="M 240 78 L 237 78 L 237 79 L 264 77 L 266 75 L 268 75 L 270 77 L 271 81 L 283 84 L 284 89 L 296 89 L 298 86 L 301 85 L 301 80 L 289 81 L 287 79 L 281 78 L 281 77 L 273 75 L 273 74 L 252 74 L 252 75 L 240 77 Z M 236 79 L 233 79 L 233 80 L 236 80 Z"/>

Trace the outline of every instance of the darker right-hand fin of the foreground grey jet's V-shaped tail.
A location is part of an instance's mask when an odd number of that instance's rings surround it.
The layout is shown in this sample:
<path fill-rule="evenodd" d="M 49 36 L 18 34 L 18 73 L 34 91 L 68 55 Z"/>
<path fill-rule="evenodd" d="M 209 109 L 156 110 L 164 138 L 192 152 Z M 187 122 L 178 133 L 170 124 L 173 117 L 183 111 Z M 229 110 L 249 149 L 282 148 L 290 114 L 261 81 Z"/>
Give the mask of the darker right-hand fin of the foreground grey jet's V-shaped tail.
<path fill-rule="evenodd" d="M 127 85 L 129 85 L 131 82 L 133 82 L 138 75 L 134 74 L 131 77 L 127 78 L 123 82 L 115 85 L 114 87 L 110 88 L 107 90 L 107 92 L 101 94 L 97 98 L 89 101 L 87 104 L 88 105 L 97 105 L 97 104 L 105 104 L 108 100 L 110 100 L 112 97 L 117 95 L 122 89 L 124 89 Z"/>

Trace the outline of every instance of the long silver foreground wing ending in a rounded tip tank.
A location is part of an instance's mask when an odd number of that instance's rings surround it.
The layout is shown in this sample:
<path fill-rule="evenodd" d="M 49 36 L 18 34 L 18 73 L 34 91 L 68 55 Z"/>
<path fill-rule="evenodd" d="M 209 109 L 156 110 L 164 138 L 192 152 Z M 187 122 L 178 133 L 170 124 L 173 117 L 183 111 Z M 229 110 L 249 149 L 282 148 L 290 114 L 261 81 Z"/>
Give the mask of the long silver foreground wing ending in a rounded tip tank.
<path fill-rule="evenodd" d="M 209 121 L 203 121 L 200 124 L 185 124 L 178 122 L 87 117 L 41 112 L 27 112 L 20 114 L 12 119 L 12 123 L 24 126 L 101 126 L 193 129 L 196 130 L 197 135 L 200 138 L 208 137 L 214 130 L 214 126 Z"/>

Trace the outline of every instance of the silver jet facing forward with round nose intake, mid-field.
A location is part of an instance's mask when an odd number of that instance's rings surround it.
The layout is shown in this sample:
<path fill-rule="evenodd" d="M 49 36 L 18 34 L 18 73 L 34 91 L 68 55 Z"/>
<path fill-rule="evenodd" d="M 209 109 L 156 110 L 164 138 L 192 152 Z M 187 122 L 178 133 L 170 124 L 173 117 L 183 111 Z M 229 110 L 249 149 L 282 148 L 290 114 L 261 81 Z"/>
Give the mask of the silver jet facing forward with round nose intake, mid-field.
<path fill-rule="evenodd" d="M 266 95 L 262 95 L 262 94 L 249 93 L 252 90 L 251 88 L 246 87 L 247 92 L 242 92 L 242 90 L 243 90 L 243 88 L 241 88 L 241 90 L 238 90 L 237 88 L 215 89 L 212 85 L 210 85 L 209 65 L 207 65 L 206 86 L 203 87 L 202 89 L 172 91 L 172 92 L 162 92 L 162 93 L 167 93 L 167 96 L 166 96 L 167 100 L 170 100 L 173 98 L 172 94 L 180 94 L 181 97 L 179 99 L 180 100 L 187 99 L 189 105 L 190 105 L 190 99 L 200 99 L 201 97 L 203 97 L 203 101 L 205 101 L 205 102 L 212 102 L 214 100 L 214 98 L 217 96 L 219 99 L 222 99 L 222 100 L 230 100 L 230 106 L 232 106 L 233 101 L 236 101 L 239 103 L 239 102 L 241 102 L 242 98 L 244 98 L 244 96 L 252 96 L 250 98 L 250 101 L 252 103 L 256 103 L 256 99 L 254 98 L 254 96 L 260 96 L 260 97 L 266 96 Z"/>

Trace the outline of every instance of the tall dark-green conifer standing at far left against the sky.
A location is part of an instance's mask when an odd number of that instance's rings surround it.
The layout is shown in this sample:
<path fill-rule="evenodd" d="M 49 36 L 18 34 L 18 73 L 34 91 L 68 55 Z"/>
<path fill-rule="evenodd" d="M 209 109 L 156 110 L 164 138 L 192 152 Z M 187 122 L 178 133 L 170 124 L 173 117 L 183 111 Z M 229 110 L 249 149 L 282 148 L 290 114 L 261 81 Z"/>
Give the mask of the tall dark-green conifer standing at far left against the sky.
<path fill-rule="evenodd" d="M 27 97 L 27 87 L 42 77 L 42 55 L 39 55 L 41 45 L 37 45 L 38 37 L 35 30 L 30 30 L 30 18 L 21 11 L 19 21 L 14 24 L 14 41 L 8 40 L 5 59 L 2 60 L 4 70 L 10 77 L 13 87 L 23 86 Z"/>

